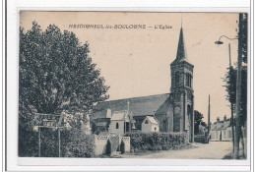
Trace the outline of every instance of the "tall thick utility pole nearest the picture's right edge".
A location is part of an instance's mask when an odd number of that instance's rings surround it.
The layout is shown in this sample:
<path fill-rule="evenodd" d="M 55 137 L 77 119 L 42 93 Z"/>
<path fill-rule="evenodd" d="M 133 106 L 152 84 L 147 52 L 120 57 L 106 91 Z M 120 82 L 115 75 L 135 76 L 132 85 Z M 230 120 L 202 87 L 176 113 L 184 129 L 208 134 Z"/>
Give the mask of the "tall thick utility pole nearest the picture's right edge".
<path fill-rule="evenodd" d="M 239 13 L 239 32 L 238 32 L 238 57 L 237 57 L 237 78 L 236 78 L 236 102 L 235 102 L 235 137 L 234 137 L 234 158 L 239 159 L 239 142 L 241 136 L 241 67 L 242 67 L 242 30 L 243 14 Z"/>

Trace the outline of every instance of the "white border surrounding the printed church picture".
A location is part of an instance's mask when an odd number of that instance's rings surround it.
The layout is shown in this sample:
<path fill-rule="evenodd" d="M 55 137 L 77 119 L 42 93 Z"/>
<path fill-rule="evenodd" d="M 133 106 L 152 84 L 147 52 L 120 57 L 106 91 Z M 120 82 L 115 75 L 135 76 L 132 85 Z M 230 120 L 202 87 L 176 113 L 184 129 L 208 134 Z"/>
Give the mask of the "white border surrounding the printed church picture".
<path fill-rule="evenodd" d="M 85 159 L 85 158 L 21 158 L 18 157 L 18 26 L 19 10 L 43 10 L 43 11 L 137 11 L 137 12 L 248 12 L 249 1 L 222 1 L 210 0 L 193 1 L 140 1 L 135 3 L 125 0 L 123 7 L 117 1 L 34 1 L 20 0 L 8 1 L 7 10 L 7 170 L 8 171 L 130 171 L 130 170 L 175 170 L 175 171 L 248 171 L 250 169 L 250 155 L 247 160 L 188 160 L 188 159 Z M 144 3 L 142 3 L 144 2 Z M 146 2 L 146 3 L 145 3 Z M 228 3 L 229 2 L 229 3 Z M 183 8 L 162 8 L 166 6 L 178 6 Z M 199 4 L 200 3 L 200 4 Z M 88 8 L 77 8 L 77 7 Z M 157 6 L 159 8 L 151 8 Z M 162 7 L 161 7 L 162 6 Z M 193 8 L 187 8 L 188 6 Z M 211 8 L 215 7 L 215 8 Z M 227 8 L 229 7 L 229 8 Z M 230 8 L 231 7 L 231 8 Z M 249 47 L 249 46 L 248 46 Z M 253 49 L 251 49 L 253 50 Z M 250 50 L 249 50 L 250 52 Z M 252 52 L 251 52 L 252 53 Z M 253 53 L 252 53 L 253 54 Z M 252 116 L 252 115 L 251 115 Z M 249 120 L 248 120 L 249 121 Z M 252 120 L 251 120 L 252 124 Z M 248 130 L 249 131 L 249 130 Z M 250 135 L 250 132 L 248 132 Z M 249 139 L 250 137 L 248 137 Z M 248 141 L 248 143 L 250 143 Z M 251 152 L 251 151 L 250 151 Z M 23 164 L 23 165 L 22 165 Z M 98 165 L 100 164 L 100 165 Z M 44 166 L 47 165 L 47 166 Z M 150 166 L 149 166 L 150 165 Z"/>

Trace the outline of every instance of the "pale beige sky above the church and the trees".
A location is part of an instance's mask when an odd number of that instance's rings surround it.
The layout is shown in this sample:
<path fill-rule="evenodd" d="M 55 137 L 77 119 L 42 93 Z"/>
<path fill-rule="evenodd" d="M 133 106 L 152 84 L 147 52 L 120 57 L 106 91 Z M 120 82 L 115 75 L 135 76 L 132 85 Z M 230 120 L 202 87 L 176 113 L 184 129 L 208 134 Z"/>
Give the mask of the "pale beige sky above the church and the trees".
<path fill-rule="evenodd" d="M 195 110 L 207 121 L 211 95 L 211 122 L 230 117 L 225 99 L 224 75 L 237 61 L 237 13 L 131 13 L 131 12 L 34 12 L 20 13 L 20 26 L 41 29 L 50 24 L 76 33 L 82 43 L 90 43 L 90 56 L 105 79 L 109 100 L 168 93 L 170 63 L 175 59 L 182 25 L 188 61 L 194 65 Z M 146 29 L 71 29 L 70 25 L 145 25 Z M 169 29 L 155 29 L 168 26 Z"/>

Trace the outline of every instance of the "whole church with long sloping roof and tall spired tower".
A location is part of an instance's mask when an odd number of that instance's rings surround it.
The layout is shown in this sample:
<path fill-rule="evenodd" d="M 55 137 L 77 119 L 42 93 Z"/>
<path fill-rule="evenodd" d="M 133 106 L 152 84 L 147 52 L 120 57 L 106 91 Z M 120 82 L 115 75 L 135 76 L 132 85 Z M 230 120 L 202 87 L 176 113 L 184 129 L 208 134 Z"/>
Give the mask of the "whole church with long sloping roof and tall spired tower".
<path fill-rule="evenodd" d="M 98 103 L 91 117 L 93 132 L 186 132 L 193 143 L 193 68 L 187 59 L 181 27 L 176 58 L 170 64 L 170 92 Z"/>

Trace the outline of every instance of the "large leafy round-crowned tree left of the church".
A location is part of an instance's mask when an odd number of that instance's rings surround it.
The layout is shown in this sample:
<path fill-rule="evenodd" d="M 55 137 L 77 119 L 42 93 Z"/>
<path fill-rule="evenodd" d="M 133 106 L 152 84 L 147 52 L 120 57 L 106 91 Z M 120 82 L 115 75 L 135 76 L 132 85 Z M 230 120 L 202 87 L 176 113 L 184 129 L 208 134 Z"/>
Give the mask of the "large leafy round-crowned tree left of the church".
<path fill-rule="evenodd" d="M 54 25 L 42 31 L 33 22 L 32 29 L 20 29 L 19 150 L 31 146 L 26 136 L 34 132 L 34 113 L 64 113 L 76 127 L 85 112 L 108 98 L 108 86 L 89 53 L 88 42 Z"/>

